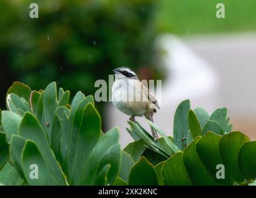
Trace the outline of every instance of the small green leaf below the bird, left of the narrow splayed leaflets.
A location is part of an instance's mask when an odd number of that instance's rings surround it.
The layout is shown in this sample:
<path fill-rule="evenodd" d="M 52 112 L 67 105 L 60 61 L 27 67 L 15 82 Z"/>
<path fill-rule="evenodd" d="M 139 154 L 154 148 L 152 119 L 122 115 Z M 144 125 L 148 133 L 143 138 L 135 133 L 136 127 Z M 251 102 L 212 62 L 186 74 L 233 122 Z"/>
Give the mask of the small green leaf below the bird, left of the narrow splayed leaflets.
<path fill-rule="evenodd" d="M 137 161 L 139 161 L 145 149 L 147 149 L 147 147 L 145 147 L 144 140 L 139 139 L 128 144 L 126 148 L 124 148 L 124 151 L 129 153 L 129 155 L 132 157 L 132 159 L 136 163 Z"/>

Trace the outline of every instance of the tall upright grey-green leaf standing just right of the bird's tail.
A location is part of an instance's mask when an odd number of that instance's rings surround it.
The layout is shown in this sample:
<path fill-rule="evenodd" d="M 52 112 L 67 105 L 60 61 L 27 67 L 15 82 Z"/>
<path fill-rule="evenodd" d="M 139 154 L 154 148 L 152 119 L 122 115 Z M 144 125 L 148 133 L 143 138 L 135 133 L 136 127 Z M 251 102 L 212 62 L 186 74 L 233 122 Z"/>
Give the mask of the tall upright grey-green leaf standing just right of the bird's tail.
<path fill-rule="evenodd" d="M 173 121 L 173 142 L 180 150 L 186 147 L 186 141 L 183 138 L 188 137 L 188 111 L 190 111 L 190 100 L 180 103 L 176 109 Z"/>

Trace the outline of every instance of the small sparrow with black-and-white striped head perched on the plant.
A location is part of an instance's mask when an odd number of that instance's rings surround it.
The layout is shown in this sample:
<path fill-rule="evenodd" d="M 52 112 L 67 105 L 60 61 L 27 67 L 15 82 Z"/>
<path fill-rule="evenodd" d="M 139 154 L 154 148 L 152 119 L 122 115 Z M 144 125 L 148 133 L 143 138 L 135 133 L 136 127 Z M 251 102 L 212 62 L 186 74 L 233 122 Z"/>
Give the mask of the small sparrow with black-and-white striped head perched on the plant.
<path fill-rule="evenodd" d="M 145 116 L 153 122 L 153 113 L 159 108 L 152 93 L 140 82 L 135 72 L 129 67 L 119 67 L 113 70 L 115 81 L 112 86 L 112 101 L 114 106 L 135 121 L 135 116 Z M 154 139 L 158 139 L 157 132 L 151 127 Z"/>

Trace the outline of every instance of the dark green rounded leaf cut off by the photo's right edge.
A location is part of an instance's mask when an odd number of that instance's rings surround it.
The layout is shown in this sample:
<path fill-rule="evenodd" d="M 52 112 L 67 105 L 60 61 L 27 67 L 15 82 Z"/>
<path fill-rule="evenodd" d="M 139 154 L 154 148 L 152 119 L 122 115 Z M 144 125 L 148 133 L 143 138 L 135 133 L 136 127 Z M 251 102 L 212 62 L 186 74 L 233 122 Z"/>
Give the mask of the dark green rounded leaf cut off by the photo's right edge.
<path fill-rule="evenodd" d="M 256 141 L 245 142 L 239 150 L 239 168 L 247 181 L 256 178 Z"/>

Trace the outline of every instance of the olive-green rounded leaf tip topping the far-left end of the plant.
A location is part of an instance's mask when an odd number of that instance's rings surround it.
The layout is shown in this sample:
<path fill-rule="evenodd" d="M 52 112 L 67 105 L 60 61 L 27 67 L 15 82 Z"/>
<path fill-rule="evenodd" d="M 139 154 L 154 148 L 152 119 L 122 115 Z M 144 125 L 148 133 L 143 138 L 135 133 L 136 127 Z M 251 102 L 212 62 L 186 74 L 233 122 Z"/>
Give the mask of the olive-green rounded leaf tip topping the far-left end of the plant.
<path fill-rule="evenodd" d="M 6 99 L 7 95 L 9 95 L 10 93 L 15 93 L 18 97 L 24 98 L 27 102 L 29 102 L 31 89 L 29 88 L 29 86 L 21 82 L 14 82 L 7 91 Z"/>

